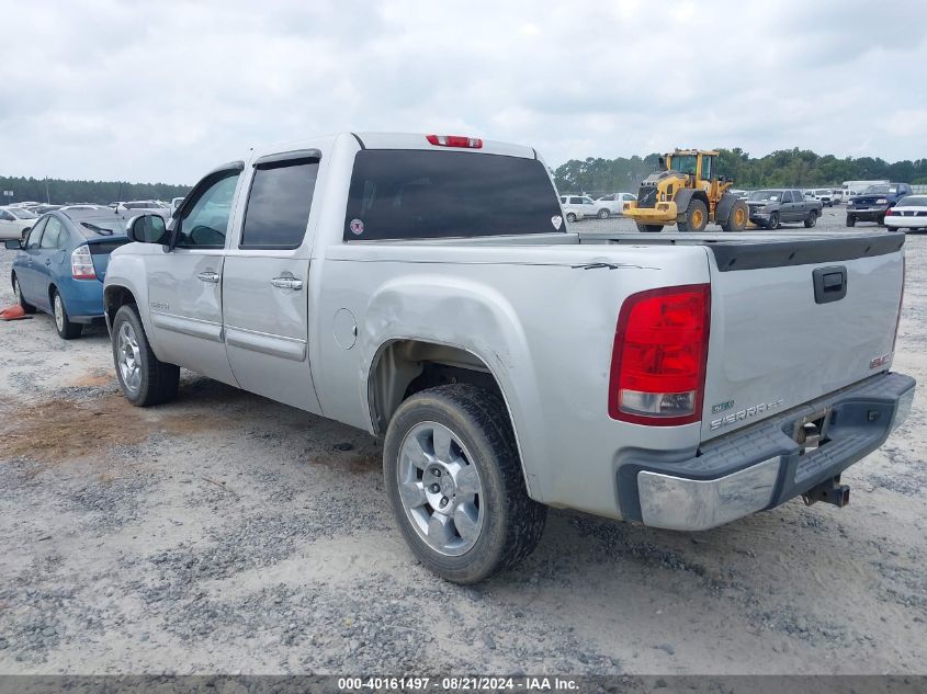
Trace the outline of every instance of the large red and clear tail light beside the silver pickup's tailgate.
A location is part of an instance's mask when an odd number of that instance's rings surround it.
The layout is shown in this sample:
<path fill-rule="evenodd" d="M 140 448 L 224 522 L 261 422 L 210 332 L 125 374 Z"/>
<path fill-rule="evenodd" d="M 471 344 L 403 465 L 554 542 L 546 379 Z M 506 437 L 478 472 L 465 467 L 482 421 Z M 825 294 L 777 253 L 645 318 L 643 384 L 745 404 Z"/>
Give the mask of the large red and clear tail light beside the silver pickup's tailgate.
<path fill-rule="evenodd" d="M 614 333 L 609 416 L 653 426 L 701 420 L 710 322 L 708 284 L 628 297 Z"/>

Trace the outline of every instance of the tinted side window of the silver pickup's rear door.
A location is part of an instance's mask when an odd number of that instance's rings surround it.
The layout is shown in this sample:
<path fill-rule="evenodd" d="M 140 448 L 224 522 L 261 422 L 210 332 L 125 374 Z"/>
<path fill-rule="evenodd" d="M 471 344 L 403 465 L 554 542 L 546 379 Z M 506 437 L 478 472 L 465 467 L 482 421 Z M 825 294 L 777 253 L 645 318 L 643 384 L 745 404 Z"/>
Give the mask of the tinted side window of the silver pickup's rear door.
<path fill-rule="evenodd" d="M 309 221 L 317 177 L 317 159 L 259 164 L 239 248 L 298 248 Z"/>

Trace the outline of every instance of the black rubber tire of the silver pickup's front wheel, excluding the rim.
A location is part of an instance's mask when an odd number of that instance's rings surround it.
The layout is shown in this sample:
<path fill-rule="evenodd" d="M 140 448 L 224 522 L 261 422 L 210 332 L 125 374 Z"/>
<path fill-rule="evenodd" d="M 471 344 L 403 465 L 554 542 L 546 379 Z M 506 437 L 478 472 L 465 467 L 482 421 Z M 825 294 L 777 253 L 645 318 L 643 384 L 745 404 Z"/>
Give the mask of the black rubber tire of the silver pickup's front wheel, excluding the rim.
<path fill-rule="evenodd" d="M 131 326 L 138 348 L 140 378 L 138 386 L 135 388 L 125 383 L 120 367 L 120 334 L 124 323 Z M 158 361 L 158 357 L 155 356 L 151 345 L 148 343 L 148 335 L 145 334 L 145 327 L 138 317 L 138 309 L 134 304 L 126 304 L 116 311 L 116 316 L 113 318 L 112 345 L 116 378 L 118 378 L 120 387 L 126 400 L 137 407 L 148 407 L 168 402 L 177 396 L 180 367 L 176 364 Z"/>

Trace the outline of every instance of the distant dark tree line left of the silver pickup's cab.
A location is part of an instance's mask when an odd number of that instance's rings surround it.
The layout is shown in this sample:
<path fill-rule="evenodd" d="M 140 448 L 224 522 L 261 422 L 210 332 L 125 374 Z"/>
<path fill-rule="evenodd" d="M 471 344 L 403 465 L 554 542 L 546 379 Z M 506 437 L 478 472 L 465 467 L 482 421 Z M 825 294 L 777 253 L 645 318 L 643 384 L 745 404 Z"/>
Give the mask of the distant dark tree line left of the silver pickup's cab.
<path fill-rule="evenodd" d="M 128 183 L 125 181 L 68 181 L 64 179 L 34 179 L 0 177 L 0 191 L 13 191 L 13 196 L 0 195 L 0 205 L 35 201 L 65 205 L 68 203 L 98 203 L 108 205 L 116 201 L 163 200 L 186 195 L 189 185 L 168 183 Z"/>

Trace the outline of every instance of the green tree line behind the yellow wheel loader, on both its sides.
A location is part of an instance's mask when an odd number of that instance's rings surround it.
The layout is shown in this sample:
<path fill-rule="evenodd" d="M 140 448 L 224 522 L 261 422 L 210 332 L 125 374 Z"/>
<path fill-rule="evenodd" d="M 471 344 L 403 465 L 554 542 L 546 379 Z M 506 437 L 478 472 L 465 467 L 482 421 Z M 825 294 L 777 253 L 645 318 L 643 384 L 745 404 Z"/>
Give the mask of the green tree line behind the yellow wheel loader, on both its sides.
<path fill-rule="evenodd" d="M 817 155 L 807 149 L 781 149 L 765 157 L 750 157 L 739 147 L 719 149 L 716 173 L 733 178 L 736 187 L 838 186 L 844 181 L 889 181 L 927 183 L 927 159 L 890 163 L 879 157 Z M 641 181 L 659 167 L 659 155 L 585 160 L 570 159 L 554 170 L 562 192 L 635 192 Z"/>

